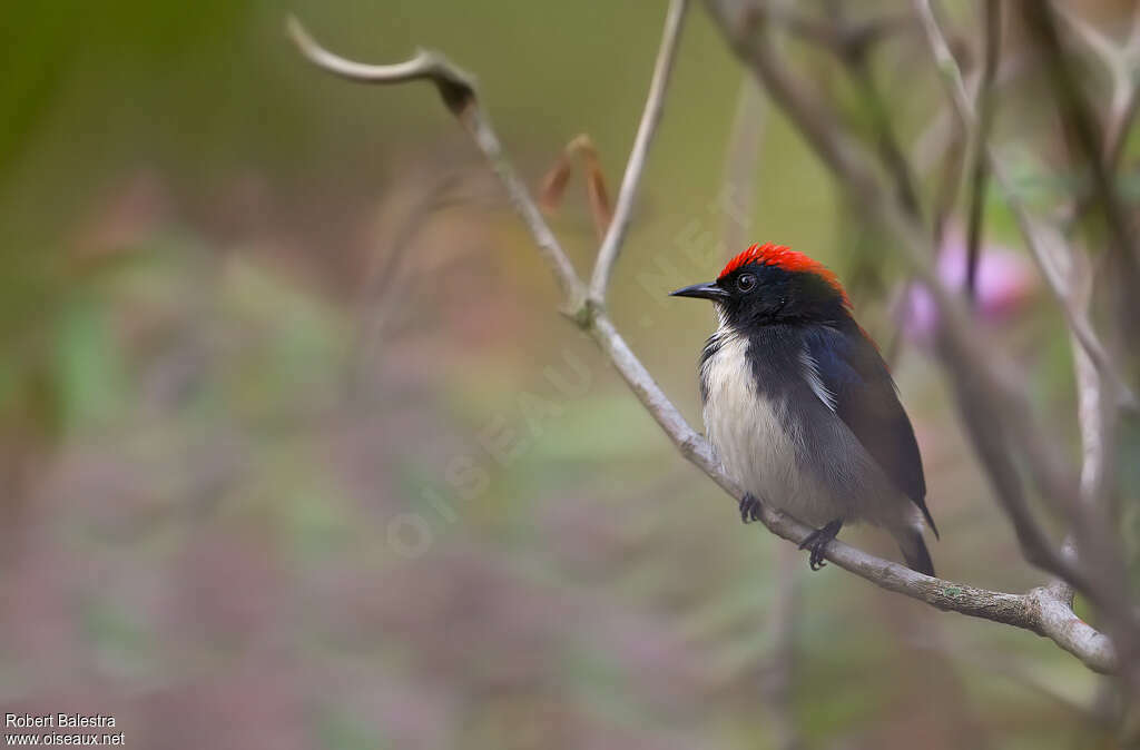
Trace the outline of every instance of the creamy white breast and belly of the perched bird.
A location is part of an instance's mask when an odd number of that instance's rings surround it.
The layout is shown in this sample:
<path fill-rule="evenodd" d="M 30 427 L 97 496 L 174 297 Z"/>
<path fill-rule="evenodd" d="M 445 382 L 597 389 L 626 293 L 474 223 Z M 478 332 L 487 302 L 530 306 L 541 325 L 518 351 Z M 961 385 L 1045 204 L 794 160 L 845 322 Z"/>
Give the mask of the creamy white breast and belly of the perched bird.
<path fill-rule="evenodd" d="M 820 482 L 800 470 L 803 438 L 783 407 L 763 397 L 746 358 L 748 341 L 720 328 L 719 349 L 701 367 L 705 430 L 725 472 L 771 506 L 820 527 L 844 515 Z"/>

